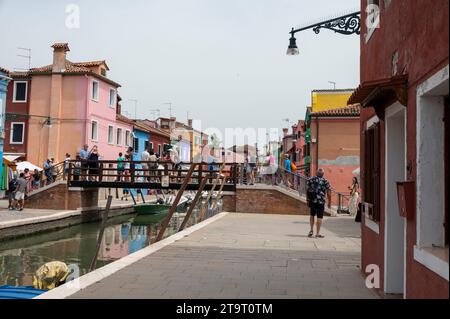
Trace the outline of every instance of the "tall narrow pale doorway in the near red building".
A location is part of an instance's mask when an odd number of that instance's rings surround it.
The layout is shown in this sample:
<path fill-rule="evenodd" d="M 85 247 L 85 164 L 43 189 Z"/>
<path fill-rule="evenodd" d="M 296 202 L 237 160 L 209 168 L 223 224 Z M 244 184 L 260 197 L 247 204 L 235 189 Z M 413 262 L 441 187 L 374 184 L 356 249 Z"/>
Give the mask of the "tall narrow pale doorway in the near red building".
<path fill-rule="evenodd" d="M 406 180 L 406 108 L 395 103 L 385 114 L 384 292 L 404 294 L 406 225 L 399 214 L 397 182 Z"/>

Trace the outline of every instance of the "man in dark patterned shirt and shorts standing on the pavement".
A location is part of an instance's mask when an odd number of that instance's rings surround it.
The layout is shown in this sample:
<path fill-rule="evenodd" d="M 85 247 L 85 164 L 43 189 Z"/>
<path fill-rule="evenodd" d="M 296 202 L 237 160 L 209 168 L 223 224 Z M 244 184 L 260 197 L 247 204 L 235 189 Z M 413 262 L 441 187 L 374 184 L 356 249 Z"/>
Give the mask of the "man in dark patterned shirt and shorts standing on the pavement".
<path fill-rule="evenodd" d="M 325 171 L 322 168 L 317 170 L 316 176 L 310 178 L 307 182 L 308 187 L 308 206 L 311 208 L 310 226 L 311 230 L 308 237 L 314 234 L 314 219 L 317 216 L 316 238 L 323 238 L 320 234 L 320 227 L 322 226 L 323 213 L 325 211 L 325 194 L 328 197 L 328 207 L 331 207 L 331 186 L 330 183 L 323 177 Z"/>

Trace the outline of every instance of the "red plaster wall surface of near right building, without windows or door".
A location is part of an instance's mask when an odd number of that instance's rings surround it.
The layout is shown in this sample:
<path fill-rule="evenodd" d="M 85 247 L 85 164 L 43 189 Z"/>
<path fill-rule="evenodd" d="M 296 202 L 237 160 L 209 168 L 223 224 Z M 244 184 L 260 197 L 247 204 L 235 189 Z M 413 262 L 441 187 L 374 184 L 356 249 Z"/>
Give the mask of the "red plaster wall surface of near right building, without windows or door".
<path fill-rule="evenodd" d="M 388 8 L 381 3 L 381 28 L 366 44 L 365 24 L 367 0 L 361 1 L 361 82 L 389 78 L 392 74 L 394 52 L 398 52 L 398 74 L 408 73 L 407 105 L 407 164 L 409 180 L 416 179 L 416 89 L 425 79 L 448 65 L 449 1 L 396 0 Z M 374 116 L 372 108 L 361 112 L 361 129 Z M 381 119 L 381 132 L 384 120 Z M 385 155 L 384 134 L 381 134 L 381 156 Z M 361 139 L 361 159 L 364 159 L 364 139 Z M 364 163 L 362 163 L 364 166 Z M 380 265 L 383 277 L 384 256 L 384 161 L 381 161 L 381 221 L 377 235 L 362 223 L 362 270 L 368 264 Z M 363 175 L 363 174 L 362 174 Z M 362 176 L 363 178 L 363 176 Z M 364 185 L 362 181 L 361 185 Z M 364 196 L 364 194 L 363 194 Z M 416 220 L 407 222 L 406 297 L 448 298 L 448 281 L 416 262 L 413 247 L 416 244 Z M 383 289 L 383 280 L 382 287 Z"/>

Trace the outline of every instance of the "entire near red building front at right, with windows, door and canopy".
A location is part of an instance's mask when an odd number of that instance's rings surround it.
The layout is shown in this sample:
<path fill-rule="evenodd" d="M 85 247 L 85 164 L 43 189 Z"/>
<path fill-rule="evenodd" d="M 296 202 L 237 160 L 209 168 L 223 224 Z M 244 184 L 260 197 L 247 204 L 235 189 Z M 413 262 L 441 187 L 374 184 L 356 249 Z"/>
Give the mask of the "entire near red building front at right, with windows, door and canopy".
<path fill-rule="evenodd" d="M 448 298 L 449 2 L 368 4 L 379 4 L 380 24 L 361 23 L 361 84 L 349 100 L 363 107 L 362 270 L 379 268 L 384 293 Z"/>

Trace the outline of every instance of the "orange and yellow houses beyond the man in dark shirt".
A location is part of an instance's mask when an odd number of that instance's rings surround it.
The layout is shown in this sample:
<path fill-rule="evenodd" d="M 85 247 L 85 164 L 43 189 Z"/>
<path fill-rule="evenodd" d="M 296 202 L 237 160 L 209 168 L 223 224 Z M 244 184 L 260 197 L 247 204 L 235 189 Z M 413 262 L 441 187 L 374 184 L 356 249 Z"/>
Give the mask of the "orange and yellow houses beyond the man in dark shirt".
<path fill-rule="evenodd" d="M 359 169 L 358 104 L 347 106 L 354 90 L 314 90 L 305 119 L 283 129 L 282 152 L 298 173 L 314 175 L 325 169 L 326 178 L 342 194 L 349 192 Z"/>

